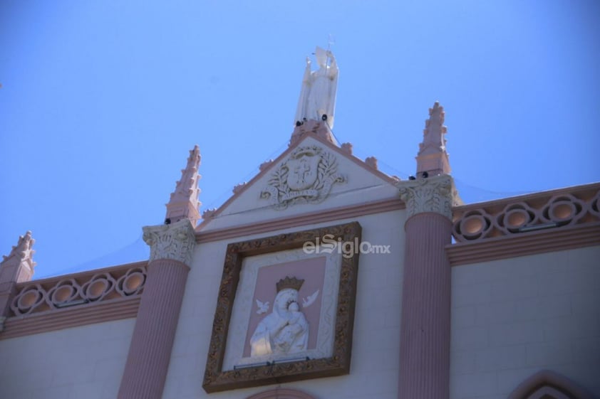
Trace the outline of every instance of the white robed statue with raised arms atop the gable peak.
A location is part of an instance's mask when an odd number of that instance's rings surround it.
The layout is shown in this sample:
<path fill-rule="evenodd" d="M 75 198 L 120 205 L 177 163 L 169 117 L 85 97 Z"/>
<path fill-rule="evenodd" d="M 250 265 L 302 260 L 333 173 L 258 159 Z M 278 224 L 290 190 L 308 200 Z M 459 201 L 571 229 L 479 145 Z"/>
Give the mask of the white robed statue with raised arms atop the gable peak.
<path fill-rule="evenodd" d="M 319 69 L 311 72 L 311 60 L 306 58 L 306 70 L 296 110 L 296 124 L 305 119 L 325 120 L 333 128 L 333 111 L 336 107 L 338 65 L 333 53 L 317 47 L 315 51 Z"/>

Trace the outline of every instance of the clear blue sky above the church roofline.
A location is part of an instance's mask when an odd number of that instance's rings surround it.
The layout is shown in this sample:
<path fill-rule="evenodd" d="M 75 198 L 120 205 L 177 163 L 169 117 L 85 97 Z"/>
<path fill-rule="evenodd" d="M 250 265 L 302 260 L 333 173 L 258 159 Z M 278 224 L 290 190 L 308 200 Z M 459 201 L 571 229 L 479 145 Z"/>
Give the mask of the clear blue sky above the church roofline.
<path fill-rule="evenodd" d="M 202 211 L 284 151 L 304 58 L 340 68 L 334 134 L 406 179 L 445 107 L 467 202 L 600 181 L 597 1 L 3 1 L 0 253 L 36 278 L 148 256 L 200 146 Z"/>

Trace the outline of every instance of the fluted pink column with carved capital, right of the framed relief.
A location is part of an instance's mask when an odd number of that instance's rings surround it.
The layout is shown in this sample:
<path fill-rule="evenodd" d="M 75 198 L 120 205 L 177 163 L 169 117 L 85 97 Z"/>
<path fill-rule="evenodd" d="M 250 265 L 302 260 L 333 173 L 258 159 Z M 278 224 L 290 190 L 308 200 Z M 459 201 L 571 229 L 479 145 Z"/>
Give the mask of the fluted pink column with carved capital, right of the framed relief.
<path fill-rule="evenodd" d="M 435 176 L 400 188 L 407 204 L 398 399 L 448 399 L 452 181 Z"/>

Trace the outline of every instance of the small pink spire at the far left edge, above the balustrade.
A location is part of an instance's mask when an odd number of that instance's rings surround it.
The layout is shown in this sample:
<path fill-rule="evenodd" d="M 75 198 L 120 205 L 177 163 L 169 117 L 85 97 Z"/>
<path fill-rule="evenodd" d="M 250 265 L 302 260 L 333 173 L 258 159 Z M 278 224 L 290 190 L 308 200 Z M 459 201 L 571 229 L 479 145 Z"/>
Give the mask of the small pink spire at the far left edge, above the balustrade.
<path fill-rule="evenodd" d="M 33 276 L 33 254 L 36 252 L 33 243 L 36 240 L 31 238 L 31 231 L 19 237 L 19 243 L 14 246 L 8 256 L 4 255 L 0 262 L 0 290 L 1 286 L 9 282 L 25 282 L 31 280 Z"/>

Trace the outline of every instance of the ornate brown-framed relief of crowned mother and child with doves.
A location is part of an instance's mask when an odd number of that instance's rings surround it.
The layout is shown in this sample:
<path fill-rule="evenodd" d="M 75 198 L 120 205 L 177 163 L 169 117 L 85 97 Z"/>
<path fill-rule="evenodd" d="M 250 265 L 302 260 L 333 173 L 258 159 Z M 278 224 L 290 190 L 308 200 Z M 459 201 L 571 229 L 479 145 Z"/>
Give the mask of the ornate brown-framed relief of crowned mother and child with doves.
<path fill-rule="evenodd" d="M 347 374 L 358 251 L 341 249 L 360 236 L 355 222 L 229 244 L 203 388 Z"/>

